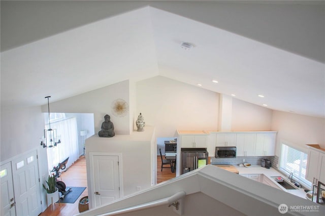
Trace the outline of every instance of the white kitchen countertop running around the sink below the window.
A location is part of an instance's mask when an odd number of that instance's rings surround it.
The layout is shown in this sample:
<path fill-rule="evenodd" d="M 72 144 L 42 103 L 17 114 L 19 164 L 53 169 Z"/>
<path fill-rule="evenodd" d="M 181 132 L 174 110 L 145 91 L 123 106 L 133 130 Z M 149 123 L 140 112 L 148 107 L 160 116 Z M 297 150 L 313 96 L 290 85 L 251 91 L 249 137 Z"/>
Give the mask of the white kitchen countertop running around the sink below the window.
<path fill-rule="evenodd" d="M 281 174 L 280 172 L 278 172 L 276 169 L 274 168 L 264 168 L 262 166 L 259 165 L 252 165 L 251 167 L 245 167 L 245 166 L 239 166 L 239 165 L 234 165 L 238 171 L 239 171 L 239 175 L 241 174 L 263 174 L 264 176 L 266 176 L 267 178 L 269 178 L 274 184 L 278 184 L 276 183 L 271 177 L 273 176 L 281 176 L 284 179 L 286 179 L 286 176 Z M 282 188 L 280 186 L 280 188 Z M 286 191 L 290 194 L 299 196 L 301 198 L 307 199 L 306 198 L 306 192 L 304 191 L 303 188 L 297 189 L 297 190 L 286 190 L 284 188 L 282 188 L 283 191 Z"/>

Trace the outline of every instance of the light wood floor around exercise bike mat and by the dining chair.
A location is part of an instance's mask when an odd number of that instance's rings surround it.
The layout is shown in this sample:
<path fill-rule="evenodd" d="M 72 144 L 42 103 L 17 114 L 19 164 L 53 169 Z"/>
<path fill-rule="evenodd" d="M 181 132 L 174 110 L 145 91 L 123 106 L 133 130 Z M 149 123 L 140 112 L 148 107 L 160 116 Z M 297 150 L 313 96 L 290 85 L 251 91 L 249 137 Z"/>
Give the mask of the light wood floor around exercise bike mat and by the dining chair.
<path fill-rule="evenodd" d="M 164 167 L 167 165 L 164 165 Z M 175 178 L 176 173 L 171 168 L 161 171 L 161 159 L 157 156 L 157 184 Z M 70 187 L 87 187 L 86 158 L 80 157 L 69 169 L 61 174 L 64 184 Z M 80 195 L 75 203 L 54 203 L 40 216 L 71 216 L 79 213 L 79 200 L 88 195 L 88 188 Z"/>

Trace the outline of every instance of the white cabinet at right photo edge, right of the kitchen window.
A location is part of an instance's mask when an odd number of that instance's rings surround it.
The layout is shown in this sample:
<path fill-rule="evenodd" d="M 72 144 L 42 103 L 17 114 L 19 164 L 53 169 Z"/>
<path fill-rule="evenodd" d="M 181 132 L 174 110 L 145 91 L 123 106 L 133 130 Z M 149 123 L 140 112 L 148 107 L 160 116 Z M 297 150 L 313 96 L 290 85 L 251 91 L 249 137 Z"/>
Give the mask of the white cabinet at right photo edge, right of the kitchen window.
<path fill-rule="evenodd" d="M 325 182 L 325 153 L 311 148 L 308 150 L 306 179 L 313 184 Z"/>

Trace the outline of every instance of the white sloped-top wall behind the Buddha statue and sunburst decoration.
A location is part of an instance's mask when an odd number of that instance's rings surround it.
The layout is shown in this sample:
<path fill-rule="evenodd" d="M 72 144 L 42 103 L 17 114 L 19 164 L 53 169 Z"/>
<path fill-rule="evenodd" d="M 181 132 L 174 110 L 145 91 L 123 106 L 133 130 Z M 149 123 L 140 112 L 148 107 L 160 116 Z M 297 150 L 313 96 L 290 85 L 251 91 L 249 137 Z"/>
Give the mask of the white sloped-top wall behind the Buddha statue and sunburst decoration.
<path fill-rule="evenodd" d="M 129 134 L 129 113 L 124 117 L 117 117 L 112 112 L 112 102 L 116 99 L 123 99 L 129 103 L 128 80 L 50 103 L 50 111 L 64 113 L 93 113 L 95 134 L 98 134 L 101 130 L 104 116 L 109 114 L 111 116 L 111 121 L 114 123 L 115 134 Z M 42 111 L 47 112 L 47 105 L 42 106 Z"/>

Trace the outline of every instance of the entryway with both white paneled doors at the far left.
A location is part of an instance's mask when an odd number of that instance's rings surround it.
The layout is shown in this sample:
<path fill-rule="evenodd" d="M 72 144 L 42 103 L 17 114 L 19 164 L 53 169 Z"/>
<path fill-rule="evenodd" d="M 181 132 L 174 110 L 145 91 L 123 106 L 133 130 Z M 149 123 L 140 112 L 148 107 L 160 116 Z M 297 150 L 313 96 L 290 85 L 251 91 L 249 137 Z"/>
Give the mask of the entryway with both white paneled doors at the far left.
<path fill-rule="evenodd" d="M 39 215 L 42 205 L 37 150 L 14 157 L 1 166 L 0 172 L 1 212 Z"/>

